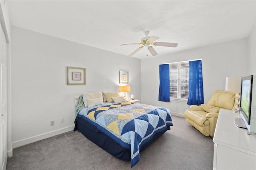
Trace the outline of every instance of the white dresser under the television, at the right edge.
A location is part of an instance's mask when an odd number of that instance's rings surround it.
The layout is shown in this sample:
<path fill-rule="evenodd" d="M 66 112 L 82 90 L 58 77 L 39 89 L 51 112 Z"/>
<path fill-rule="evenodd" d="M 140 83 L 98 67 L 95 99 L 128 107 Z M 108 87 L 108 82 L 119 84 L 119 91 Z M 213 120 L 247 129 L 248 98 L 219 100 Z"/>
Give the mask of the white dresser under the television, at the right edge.
<path fill-rule="evenodd" d="M 238 128 L 238 113 L 221 109 L 213 137 L 214 170 L 256 170 L 256 134 Z"/>

